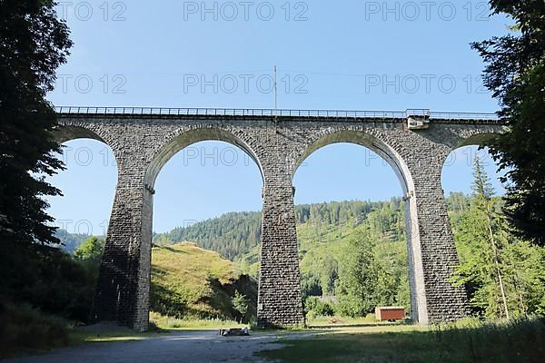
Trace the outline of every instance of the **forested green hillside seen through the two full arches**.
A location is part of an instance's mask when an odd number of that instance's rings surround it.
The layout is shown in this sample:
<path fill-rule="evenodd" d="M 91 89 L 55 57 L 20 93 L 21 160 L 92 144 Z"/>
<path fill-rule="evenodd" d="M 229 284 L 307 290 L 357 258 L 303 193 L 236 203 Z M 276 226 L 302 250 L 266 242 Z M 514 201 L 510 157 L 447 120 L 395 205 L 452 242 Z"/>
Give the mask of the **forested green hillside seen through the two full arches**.
<path fill-rule="evenodd" d="M 261 212 L 227 213 L 186 228 L 157 234 L 154 243 L 169 245 L 184 240 L 194 241 L 203 249 L 215 250 L 236 261 L 243 272 L 257 278 L 261 217 Z M 347 251 L 357 248 L 371 252 L 371 260 L 366 264 L 376 272 L 376 280 L 370 286 L 377 289 L 372 303 L 409 307 L 404 202 L 401 199 L 298 205 L 295 218 L 303 298 L 339 295 L 336 287 L 340 276 L 352 276 L 347 268 L 342 267 L 343 257 Z M 354 240 L 363 235 L 366 236 L 365 244 L 352 246 Z M 346 314 L 357 316 L 364 312 L 352 307 Z"/>

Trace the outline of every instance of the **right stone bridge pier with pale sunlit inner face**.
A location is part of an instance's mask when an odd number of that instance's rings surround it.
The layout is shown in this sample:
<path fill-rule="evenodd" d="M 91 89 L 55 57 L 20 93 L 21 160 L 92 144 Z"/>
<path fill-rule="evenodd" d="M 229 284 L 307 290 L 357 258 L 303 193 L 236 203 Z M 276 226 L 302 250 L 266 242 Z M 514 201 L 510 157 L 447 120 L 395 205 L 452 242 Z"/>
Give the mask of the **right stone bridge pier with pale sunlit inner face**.
<path fill-rule="evenodd" d="M 406 201 L 411 314 L 421 324 L 462 319 L 469 313 L 465 289 L 449 281 L 459 259 L 441 189 L 441 166 L 420 160 L 411 168 L 414 190 Z"/>

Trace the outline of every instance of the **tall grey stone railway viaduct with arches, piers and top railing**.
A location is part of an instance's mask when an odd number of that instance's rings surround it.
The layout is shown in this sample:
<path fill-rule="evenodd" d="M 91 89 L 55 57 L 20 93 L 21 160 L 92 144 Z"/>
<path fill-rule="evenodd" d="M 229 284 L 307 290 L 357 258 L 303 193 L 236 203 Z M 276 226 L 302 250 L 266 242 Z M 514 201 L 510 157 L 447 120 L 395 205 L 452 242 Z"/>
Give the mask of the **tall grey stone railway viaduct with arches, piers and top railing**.
<path fill-rule="evenodd" d="M 413 319 L 429 324 L 460 319 L 468 312 L 465 291 L 448 282 L 458 255 L 441 169 L 452 150 L 480 144 L 502 131 L 493 115 L 95 107 L 58 107 L 57 112 L 59 142 L 104 142 L 118 166 L 94 321 L 147 329 L 154 182 L 176 152 L 209 140 L 241 148 L 263 176 L 261 327 L 304 322 L 292 177 L 307 156 L 334 142 L 371 149 L 399 177 L 406 201 Z"/>

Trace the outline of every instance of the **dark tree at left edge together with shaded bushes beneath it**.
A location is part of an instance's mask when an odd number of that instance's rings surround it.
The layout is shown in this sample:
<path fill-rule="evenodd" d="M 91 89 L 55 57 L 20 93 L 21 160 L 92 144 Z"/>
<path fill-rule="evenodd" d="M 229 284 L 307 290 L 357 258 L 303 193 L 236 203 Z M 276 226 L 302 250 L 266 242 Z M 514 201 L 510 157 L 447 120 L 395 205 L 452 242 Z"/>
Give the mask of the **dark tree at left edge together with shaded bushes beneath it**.
<path fill-rule="evenodd" d="M 54 5 L 51 0 L 0 5 L 0 243 L 9 251 L 0 264 L 0 298 L 85 320 L 92 277 L 51 247 L 59 240 L 43 199 L 60 194 L 43 175 L 63 167 L 51 133 L 56 113 L 45 95 L 72 46 Z"/>

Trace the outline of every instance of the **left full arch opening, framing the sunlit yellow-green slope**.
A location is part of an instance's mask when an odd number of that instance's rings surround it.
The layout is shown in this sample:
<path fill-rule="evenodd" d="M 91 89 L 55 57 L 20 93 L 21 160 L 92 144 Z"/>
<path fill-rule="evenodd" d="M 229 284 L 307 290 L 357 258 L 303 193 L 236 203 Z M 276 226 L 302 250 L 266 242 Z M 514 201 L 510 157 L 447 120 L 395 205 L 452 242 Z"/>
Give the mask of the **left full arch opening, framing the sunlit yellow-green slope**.
<path fill-rule="evenodd" d="M 230 132 L 184 132 L 146 174 L 154 188 L 150 319 L 232 319 L 257 314 L 263 172 Z M 247 312 L 233 308 L 235 297 Z M 240 296 L 239 296 L 240 298 Z"/>

